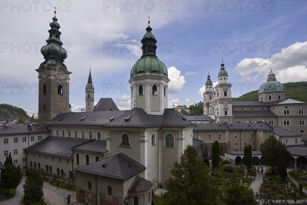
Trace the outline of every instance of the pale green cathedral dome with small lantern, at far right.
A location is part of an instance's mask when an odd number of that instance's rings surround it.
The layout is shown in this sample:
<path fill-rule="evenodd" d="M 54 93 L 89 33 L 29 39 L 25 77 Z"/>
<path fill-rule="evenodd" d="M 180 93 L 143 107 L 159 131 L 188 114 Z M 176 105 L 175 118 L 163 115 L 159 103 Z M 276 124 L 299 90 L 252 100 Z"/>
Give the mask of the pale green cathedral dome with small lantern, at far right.
<path fill-rule="evenodd" d="M 258 94 L 270 92 L 286 92 L 283 85 L 276 80 L 275 74 L 273 73 L 272 69 L 268 75 L 267 82 L 259 87 Z"/>

